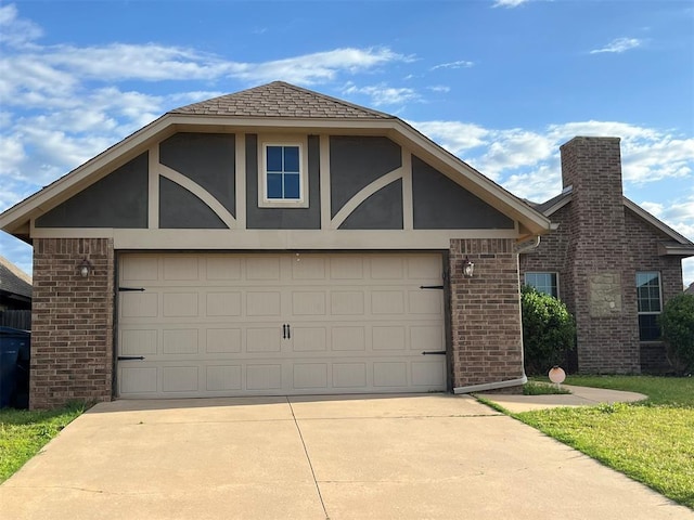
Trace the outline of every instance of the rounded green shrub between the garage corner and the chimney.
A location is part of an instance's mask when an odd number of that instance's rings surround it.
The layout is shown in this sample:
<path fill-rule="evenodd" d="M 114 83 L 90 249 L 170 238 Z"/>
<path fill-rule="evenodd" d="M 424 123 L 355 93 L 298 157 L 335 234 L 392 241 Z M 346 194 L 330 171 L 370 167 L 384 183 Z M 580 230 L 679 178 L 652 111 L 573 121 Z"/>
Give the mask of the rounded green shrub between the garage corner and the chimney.
<path fill-rule="evenodd" d="M 529 375 L 547 374 L 566 362 L 574 349 L 576 325 L 566 306 L 534 287 L 520 290 L 525 369 Z"/>

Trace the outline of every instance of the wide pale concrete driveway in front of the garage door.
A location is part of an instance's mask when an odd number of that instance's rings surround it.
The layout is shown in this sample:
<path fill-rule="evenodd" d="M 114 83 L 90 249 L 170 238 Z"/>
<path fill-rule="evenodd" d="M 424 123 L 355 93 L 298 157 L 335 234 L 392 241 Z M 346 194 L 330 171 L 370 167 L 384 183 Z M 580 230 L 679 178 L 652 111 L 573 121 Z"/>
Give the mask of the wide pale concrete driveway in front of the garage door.
<path fill-rule="evenodd" d="M 116 401 L 0 486 L 8 519 L 694 518 L 470 396 Z"/>

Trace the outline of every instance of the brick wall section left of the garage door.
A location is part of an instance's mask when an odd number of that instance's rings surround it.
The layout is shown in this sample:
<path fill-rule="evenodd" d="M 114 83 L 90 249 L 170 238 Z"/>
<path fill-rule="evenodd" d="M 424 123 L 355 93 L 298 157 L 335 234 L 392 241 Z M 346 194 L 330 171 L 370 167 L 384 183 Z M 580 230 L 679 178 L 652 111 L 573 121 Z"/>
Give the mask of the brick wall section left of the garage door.
<path fill-rule="evenodd" d="M 93 265 L 86 278 L 85 258 Z M 111 400 L 113 281 L 113 240 L 34 239 L 30 408 Z"/>

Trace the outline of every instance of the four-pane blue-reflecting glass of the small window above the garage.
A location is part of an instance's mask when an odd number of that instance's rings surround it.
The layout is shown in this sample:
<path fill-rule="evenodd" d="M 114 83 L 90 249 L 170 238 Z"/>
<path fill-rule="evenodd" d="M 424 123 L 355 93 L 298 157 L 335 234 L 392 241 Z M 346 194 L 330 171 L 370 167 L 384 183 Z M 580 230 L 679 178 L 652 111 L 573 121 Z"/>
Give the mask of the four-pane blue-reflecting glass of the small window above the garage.
<path fill-rule="evenodd" d="M 265 146 L 267 200 L 301 200 L 301 152 L 298 145 Z"/>

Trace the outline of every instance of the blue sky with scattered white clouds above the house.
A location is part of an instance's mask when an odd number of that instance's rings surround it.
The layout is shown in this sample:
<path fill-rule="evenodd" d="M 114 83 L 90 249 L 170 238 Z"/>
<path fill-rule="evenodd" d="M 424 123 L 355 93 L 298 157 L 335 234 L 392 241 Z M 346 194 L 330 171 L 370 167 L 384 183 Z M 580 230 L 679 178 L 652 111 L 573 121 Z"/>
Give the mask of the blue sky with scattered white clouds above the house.
<path fill-rule="evenodd" d="M 691 1 L 0 2 L 0 210 L 165 112 L 284 80 L 395 114 L 531 200 L 621 138 L 625 194 L 694 237 Z M 31 250 L 0 233 L 31 271 Z M 694 259 L 684 262 L 694 282 Z"/>

